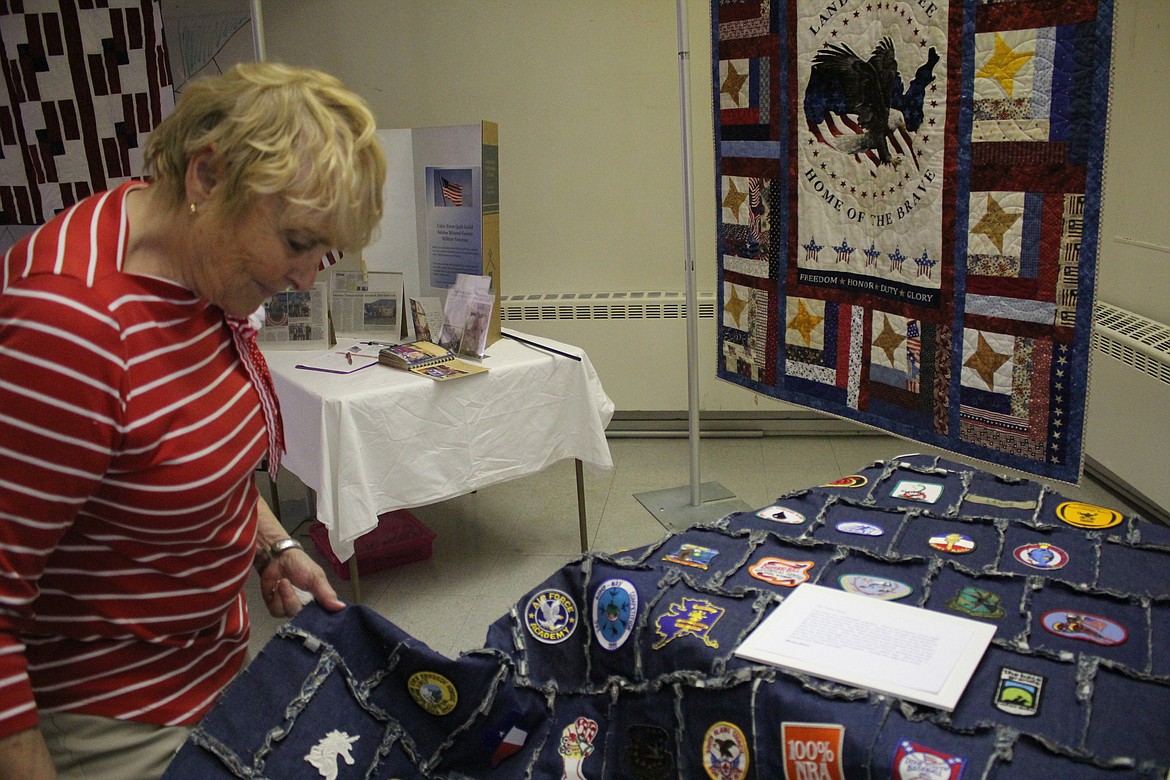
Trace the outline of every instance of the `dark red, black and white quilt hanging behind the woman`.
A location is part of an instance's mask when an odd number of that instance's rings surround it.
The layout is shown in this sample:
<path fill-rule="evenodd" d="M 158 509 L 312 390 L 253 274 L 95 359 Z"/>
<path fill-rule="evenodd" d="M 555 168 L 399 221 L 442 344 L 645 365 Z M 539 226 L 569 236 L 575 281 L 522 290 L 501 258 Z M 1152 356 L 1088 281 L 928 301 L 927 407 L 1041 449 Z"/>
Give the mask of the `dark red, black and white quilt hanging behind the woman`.
<path fill-rule="evenodd" d="M 0 225 L 140 175 L 174 108 L 158 0 L 2 0 L 0 70 Z"/>

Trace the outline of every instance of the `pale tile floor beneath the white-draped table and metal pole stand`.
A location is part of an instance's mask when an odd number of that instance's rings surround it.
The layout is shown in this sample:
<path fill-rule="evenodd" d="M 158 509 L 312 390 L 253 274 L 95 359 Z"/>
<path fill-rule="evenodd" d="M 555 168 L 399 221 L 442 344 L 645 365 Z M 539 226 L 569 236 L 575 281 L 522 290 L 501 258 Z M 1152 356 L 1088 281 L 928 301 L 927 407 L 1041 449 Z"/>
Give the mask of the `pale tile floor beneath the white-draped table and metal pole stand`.
<path fill-rule="evenodd" d="M 668 532 L 634 493 L 689 490 L 688 440 L 611 439 L 610 449 L 612 470 L 585 468 L 591 548 L 618 552 L 658 541 Z M 930 450 L 886 435 L 786 435 L 703 439 L 698 451 L 702 482 L 718 482 L 749 506 L 759 508 L 785 492 L 853 474 L 874 461 Z M 1090 477 L 1080 488 L 1052 486 L 1072 499 L 1127 515 L 1135 511 Z M 309 523 L 297 525 L 297 512 L 304 517 L 303 504 L 282 502 L 284 524 L 295 526 L 294 534 L 319 559 L 308 536 Z M 432 558 L 363 575 L 363 603 L 450 657 L 482 647 L 490 623 L 580 554 L 572 461 L 412 511 L 436 533 Z M 333 585 L 343 599 L 351 598 L 347 581 L 336 579 Z M 270 617 L 260 602 L 256 578 L 248 588 L 255 653 L 281 621 Z"/>

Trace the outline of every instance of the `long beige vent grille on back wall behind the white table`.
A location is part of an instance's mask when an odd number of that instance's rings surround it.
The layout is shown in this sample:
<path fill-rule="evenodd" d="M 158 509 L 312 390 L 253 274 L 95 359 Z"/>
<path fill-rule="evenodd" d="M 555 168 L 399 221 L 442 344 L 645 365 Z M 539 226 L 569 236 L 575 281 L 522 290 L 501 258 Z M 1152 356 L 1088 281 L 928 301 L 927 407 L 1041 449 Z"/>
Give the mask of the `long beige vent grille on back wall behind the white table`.
<path fill-rule="evenodd" d="M 695 296 L 700 319 L 715 318 L 715 294 Z M 505 323 L 536 319 L 686 319 L 682 292 L 544 292 L 501 298 L 500 318 Z"/>

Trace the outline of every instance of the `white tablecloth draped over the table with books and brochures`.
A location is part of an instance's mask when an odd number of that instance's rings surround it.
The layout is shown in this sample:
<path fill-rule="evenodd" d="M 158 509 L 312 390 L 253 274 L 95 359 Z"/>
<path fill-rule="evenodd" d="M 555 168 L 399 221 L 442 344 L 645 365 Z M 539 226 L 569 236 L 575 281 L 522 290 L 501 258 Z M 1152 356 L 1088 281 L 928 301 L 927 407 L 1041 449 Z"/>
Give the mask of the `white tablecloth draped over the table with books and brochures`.
<path fill-rule="evenodd" d="M 531 337 L 525 337 L 530 338 Z M 502 338 L 487 373 L 434 381 L 386 366 L 352 374 L 296 368 L 314 352 L 266 348 L 284 416 L 284 467 L 317 491 L 335 554 L 381 512 L 422 506 L 536 474 L 564 458 L 613 465 L 613 401 L 578 347 L 531 339 L 572 360 Z M 345 348 L 353 340 L 339 339 Z"/>

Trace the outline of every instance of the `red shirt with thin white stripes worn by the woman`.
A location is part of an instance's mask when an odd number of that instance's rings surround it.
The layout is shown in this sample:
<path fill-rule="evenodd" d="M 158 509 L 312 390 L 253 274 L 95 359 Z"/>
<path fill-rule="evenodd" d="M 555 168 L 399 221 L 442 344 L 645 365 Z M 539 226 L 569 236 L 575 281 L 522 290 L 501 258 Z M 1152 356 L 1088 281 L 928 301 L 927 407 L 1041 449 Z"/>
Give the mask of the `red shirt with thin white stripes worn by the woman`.
<path fill-rule="evenodd" d="M 195 723 L 247 649 L 264 421 L 223 312 L 119 270 L 138 186 L 0 267 L 0 737 Z"/>

